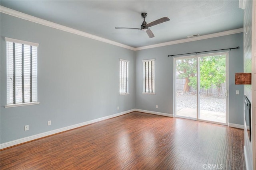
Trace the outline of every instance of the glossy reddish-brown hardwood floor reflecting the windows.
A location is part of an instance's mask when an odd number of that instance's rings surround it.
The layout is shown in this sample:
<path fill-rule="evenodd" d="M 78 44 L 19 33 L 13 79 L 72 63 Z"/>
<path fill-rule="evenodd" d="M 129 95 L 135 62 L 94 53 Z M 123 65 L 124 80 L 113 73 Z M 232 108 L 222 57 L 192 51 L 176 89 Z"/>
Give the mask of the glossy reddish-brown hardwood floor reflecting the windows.
<path fill-rule="evenodd" d="M 0 151 L 1 170 L 245 169 L 244 131 L 140 112 Z"/>

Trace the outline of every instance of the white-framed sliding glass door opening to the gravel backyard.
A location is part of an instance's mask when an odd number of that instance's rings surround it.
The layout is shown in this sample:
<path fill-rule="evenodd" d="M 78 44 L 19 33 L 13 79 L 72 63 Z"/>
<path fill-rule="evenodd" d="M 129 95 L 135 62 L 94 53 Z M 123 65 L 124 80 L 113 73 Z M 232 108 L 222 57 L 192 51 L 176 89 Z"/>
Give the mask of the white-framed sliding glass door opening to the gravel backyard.
<path fill-rule="evenodd" d="M 176 117 L 227 124 L 228 53 L 174 58 Z"/>

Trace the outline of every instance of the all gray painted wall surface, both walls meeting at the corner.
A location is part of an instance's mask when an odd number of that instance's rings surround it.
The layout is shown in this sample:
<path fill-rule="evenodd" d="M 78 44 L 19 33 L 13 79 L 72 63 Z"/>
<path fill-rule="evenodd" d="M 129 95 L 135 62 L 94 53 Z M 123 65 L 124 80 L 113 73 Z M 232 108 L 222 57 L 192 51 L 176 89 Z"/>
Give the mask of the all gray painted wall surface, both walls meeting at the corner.
<path fill-rule="evenodd" d="M 242 33 L 141 51 L 60 31 L 1 13 L 0 143 L 77 123 L 144 109 L 173 113 L 173 66 L 170 54 L 240 46 L 230 51 L 230 123 L 243 124 L 243 88 L 234 85 L 243 72 Z M 6 42 L 4 37 L 39 43 L 39 105 L 6 105 Z M 129 95 L 119 95 L 119 59 L 129 60 Z M 142 60 L 156 59 L 156 95 L 142 95 Z M 240 90 L 240 95 L 235 91 Z M 158 109 L 156 109 L 158 105 Z M 119 106 L 119 110 L 117 110 Z M 52 125 L 48 126 L 47 121 Z M 29 131 L 24 131 L 29 125 Z"/>

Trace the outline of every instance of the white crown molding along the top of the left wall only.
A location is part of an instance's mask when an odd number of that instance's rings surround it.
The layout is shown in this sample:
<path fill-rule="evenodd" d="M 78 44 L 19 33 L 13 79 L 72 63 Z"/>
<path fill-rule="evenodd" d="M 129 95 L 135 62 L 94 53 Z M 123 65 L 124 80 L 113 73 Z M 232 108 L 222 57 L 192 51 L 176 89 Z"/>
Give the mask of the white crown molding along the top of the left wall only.
<path fill-rule="evenodd" d="M 6 8 L 4 6 L 0 6 L 0 12 L 2 12 L 4 14 L 8 14 L 10 16 L 21 18 L 21 19 L 24 19 L 24 20 L 32 21 L 34 23 L 39 23 L 41 25 L 45 25 L 45 26 L 48 26 L 48 27 L 60 29 L 62 31 L 66 31 L 66 32 L 69 32 L 69 33 L 74 33 L 76 35 L 81 35 L 83 37 L 87 37 L 87 38 L 90 38 L 90 39 L 95 39 L 95 40 L 98 40 L 98 41 L 102 41 L 104 43 L 116 45 L 116 46 L 123 47 L 123 48 L 130 49 L 130 50 L 135 49 L 134 47 L 130 47 L 128 45 L 124 45 L 124 44 L 118 43 L 116 41 L 112 41 L 112 40 L 109 40 L 109 39 L 98 37 L 96 35 L 92 35 L 92 34 L 89 34 L 89 33 L 83 32 L 83 31 L 79 31 L 77 29 L 73 29 L 73 28 L 70 28 L 70 27 L 66 27 L 66 26 L 54 23 L 54 22 L 50 22 L 50 21 L 43 20 L 43 19 L 40 19 L 40 18 L 37 18 L 37 17 L 34 17 L 34 16 L 30 16 L 28 14 L 24 14 L 22 12 L 15 11 L 15 10 L 12 10 L 10 8 Z"/>

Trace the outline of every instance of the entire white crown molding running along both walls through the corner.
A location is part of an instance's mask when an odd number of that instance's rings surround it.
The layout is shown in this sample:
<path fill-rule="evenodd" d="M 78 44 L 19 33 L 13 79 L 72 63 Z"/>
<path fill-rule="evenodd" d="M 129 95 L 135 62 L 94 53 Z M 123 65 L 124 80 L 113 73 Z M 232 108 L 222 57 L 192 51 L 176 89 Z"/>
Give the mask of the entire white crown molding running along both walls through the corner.
<path fill-rule="evenodd" d="M 169 42 L 165 42 L 165 43 L 159 43 L 159 44 L 154 44 L 154 45 L 148 45 L 148 46 L 136 47 L 135 48 L 135 47 L 131 47 L 131 46 L 128 46 L 128 45 L 118 43 L 116 41 L 112 41 L 112 40 L 105 39 L 105 38 L 102 38 L 102 37 L 98 37 L 96 35 L 92 35 L 92 34 L 89 34 L 89 33 L 83 32 L 83 31 L 79 31 L 77 29 L 73 29 L 73 28 L 70 28 L 70 27 L 66 27 L 66 26 L 54 23 L 54 22 L 50 22 L 50 21 L 43 20 L 43 19 L 40 19 L 40 18 L 37 18 L 37 17 L 34 17 L 34 16 L 30 16 L 28 14 L 24 14 L 22 12 L 15 11 L 15 10 L 12 10 L 10 8 L 6 8 L 4 6 L 0 6 L 0 12 L 2 12 L 4 14 L 8 14 L 10 16 L 21 18 L 21 19 L 24 19 L 24 20 L 32 21 L 34 23 L 38 23 L 38 24 L 41 24 L 41 25 L 52 27 L 52 28 L 55 28 L 55 29 L 60 29 L 62 31 L 66 31 L 66 32 L 69 32 L 69 33 L 74 33 L 76 35 L 80 35 L 80 36 L 87 37 L 87 38 L 90 38 L 90 39 L 94 39 L 94 40 L 97 40 L 97 41 L 102 41 L 104 43 L 116 45 L 118 47 L 123 47 L 123 48 L 126 48 L 126 49 L 130 49 L 130 50 L 133 50 L 133 51 L 138 51 L 138 50 L 143 50 L 143 49 L 151 49 L 151 48 L 156 48 L 156 47 L 163 47 L 163 46 L 166 46 L 166 45 L 187 43 L 187 42 L 191 42 L 191 41 L 198 41 L 198 40 L 202 40 L 202 39 L 220 37 L 220 36 L 224 36 L 224 35 L 231 35 L 231 34 L 236 34 L 236 33 L 243 32 L 243 28 L 239 28 L 239 29 L 233 29 L 233 30 L 230 30 L 230 31 L 224 31 L 224 32 L 220 32 L 220 33 L 201 35 L 201 36 L 198 36 L 198 37 L 180 39 L 180 40 L 169 41 Z"/>

